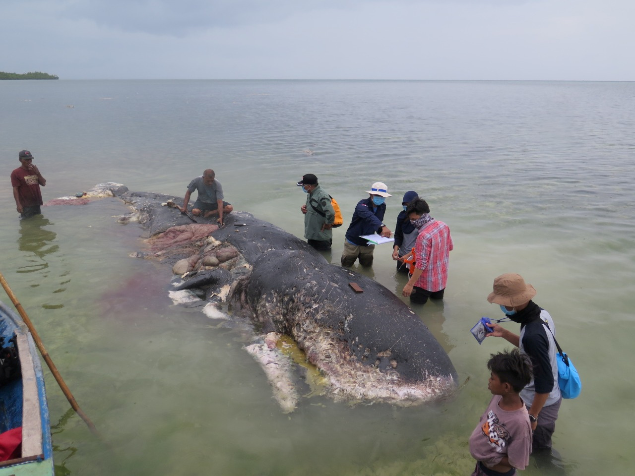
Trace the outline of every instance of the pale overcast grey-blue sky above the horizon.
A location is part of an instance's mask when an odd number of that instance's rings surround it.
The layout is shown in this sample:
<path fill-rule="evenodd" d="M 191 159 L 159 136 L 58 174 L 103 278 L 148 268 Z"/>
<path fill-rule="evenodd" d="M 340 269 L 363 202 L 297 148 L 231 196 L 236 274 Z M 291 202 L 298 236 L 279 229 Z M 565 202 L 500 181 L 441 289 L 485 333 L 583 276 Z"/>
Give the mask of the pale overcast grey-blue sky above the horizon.
<path fill-rule="evenodd" d="M 0 0 L 61 79 L 635 80 L 635 0 Z"/>

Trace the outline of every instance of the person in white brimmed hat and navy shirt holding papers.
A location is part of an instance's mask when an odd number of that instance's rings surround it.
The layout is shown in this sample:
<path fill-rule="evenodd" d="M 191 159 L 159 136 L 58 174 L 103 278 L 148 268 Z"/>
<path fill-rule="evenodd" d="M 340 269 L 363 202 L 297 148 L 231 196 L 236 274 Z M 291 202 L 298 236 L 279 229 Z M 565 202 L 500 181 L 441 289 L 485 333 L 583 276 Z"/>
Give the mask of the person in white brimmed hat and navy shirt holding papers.
<path fill-rule="evenodd" d="M 342 266 L 345 267 L 351 267 L 358 258 L 362 266 L 373 264 L 375 245 L 369 246 L 368 241 L 360 238 L 360 235 L 371 235 L 375 232 L 387 238 L 392 235 L 391 230 L 384 225 L 384 202 L 387 197 L 392 197 L 388 193 L 388 186 L 384 182 L 375 182 L 366 192 L 369 194 L 368 198 L 358 202 L 351 225 L 346 230 L 342 252 Z"/>

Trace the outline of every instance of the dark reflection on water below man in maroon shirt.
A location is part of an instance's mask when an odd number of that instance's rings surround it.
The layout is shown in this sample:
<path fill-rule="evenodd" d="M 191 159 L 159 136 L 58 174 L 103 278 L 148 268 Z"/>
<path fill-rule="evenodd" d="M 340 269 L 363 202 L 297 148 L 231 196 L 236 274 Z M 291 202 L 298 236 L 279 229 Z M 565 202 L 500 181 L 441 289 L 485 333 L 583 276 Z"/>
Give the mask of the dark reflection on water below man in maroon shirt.
<path fill-rule="evenodd" d="M 55 253 L 59 249 L 57 244 L 51 244 L 57 234 L 51 230 L 44 229 L 44 227 L 53 224 L 48 218 L 44 218 L 43 215 L 35 215 L 31 218 L 20 220 L 18 249 L 25 252 L 24 259 L 29 264 L 18 267 L 18 273 L 32 273 L 48 268 L 46 255 Z"/>

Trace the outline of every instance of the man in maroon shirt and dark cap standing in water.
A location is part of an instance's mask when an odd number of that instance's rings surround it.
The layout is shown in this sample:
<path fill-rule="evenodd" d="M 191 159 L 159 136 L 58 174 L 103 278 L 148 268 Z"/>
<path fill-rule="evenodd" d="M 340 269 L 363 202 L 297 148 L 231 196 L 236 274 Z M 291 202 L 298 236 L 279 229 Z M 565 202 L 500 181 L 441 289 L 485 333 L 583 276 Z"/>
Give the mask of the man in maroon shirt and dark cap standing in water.
<path fill-rule="evenodd" d="M 18 160 L 20 167 L 11 172 L 13 198 L 18 213 L 22 218 L 29 218 L 41 213 L 42 193 L 39 188 L 46 185 L 46 178 L 33 163 L 33 155 L 28 150 L 20 150 Z"/>

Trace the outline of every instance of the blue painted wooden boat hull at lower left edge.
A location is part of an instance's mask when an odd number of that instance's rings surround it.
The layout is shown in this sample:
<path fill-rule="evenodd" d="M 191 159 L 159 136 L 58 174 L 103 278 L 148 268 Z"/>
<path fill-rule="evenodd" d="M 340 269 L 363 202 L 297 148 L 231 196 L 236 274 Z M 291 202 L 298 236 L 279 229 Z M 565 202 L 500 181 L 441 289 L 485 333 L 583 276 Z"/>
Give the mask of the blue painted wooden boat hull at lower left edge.
<path fill-rule="evenodd" d="M 51 424 L 37 348 L 29 329 L 0 302 L 0 335 L 5 347 L 16 336 L 22 378 L 0 387 L 0 433 L 22 426 L 22 458 L 0 461 L 0 476 L 53 475 Z"/>

